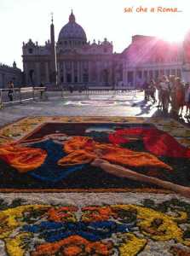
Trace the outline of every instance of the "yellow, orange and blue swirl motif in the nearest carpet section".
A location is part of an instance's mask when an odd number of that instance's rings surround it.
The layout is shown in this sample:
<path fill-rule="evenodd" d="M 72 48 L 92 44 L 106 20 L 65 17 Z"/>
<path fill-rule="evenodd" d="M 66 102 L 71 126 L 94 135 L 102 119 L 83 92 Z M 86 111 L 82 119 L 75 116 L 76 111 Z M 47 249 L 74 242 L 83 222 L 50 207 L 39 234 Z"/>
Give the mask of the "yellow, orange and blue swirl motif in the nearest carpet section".
<path fill-rule="evenodd" d="M 176 241 L 168 252 L 189 255 L 189 234 L 179 224 L 189 221 L 190 204 L 173 200 L 162 205 L 5 205 L 0 239 L 9 256 L 135 256 L 146 252 L 149 241 Z"/>

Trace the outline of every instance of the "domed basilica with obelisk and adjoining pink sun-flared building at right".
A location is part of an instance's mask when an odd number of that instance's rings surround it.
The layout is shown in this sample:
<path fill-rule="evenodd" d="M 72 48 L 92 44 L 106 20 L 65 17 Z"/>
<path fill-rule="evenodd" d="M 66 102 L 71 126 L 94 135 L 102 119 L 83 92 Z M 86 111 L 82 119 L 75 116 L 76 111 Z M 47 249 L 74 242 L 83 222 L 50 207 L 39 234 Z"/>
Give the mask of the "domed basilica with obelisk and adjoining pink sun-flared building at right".
<path fill-rule="evenodd" d="M 187 65 L 184 45 L 158 38 L 135 35 L 121 53 L 113 53 L 112 42 L 90 43 L 73 13 L 55 42 L 55 26 L 50 25 L 50 40 L 38 45 L 23 43 L 26 84 L 64 86 L 135 86 L 146 79 L 174 74 L 183 77 Z M 187 67 L 188 69 L 188 67 Z M 189 77 L 190 79 L 190 77 Z"/>

